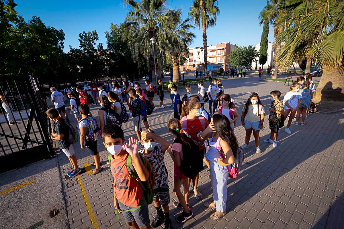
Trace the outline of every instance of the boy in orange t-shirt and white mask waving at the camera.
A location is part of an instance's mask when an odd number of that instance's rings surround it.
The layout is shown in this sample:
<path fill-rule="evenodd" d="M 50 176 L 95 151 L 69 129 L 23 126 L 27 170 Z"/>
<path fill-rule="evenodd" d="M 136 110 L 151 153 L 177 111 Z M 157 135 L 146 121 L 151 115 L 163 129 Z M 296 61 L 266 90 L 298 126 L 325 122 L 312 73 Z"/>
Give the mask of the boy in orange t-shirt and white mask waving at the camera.
<path fill-rule="evenodd" d="M 131 137 L 124 147 L 123 130 L 115 125 L 105 128 L 103 139 L 106 150 L 112 154 L 110 169 L 114 177 L 115 209 L 121 213 L 122 210 L 136 208 L 142 197 L 142 187 L 135 179 L 128 179 L 130 176 L 127 168 L 129 154 L 140 180 L 147 181 L 149 176 L 139 156 L 138 141 Z M 151 229 L 147 203 L 134 211 L 125 211 L 122 215 L 131 228 Z"/>

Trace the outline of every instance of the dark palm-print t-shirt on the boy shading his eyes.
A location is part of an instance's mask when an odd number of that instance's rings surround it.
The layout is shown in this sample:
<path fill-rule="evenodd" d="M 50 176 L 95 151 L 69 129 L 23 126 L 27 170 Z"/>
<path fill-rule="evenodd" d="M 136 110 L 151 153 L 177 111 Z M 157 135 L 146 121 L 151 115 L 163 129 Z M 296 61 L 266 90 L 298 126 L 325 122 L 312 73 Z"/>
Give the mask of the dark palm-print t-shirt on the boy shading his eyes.
<path fill-rule="evenodd" d="M 154 189 L 169 185 L 169 177 L 165 170 L 164 152 L 161 150 L 161 145 L 155 146 L 153 151 L 148 155 L 144 155 L 144 150 L 139 150 L 144 158 L 152 165 L 154 170 Z"/>

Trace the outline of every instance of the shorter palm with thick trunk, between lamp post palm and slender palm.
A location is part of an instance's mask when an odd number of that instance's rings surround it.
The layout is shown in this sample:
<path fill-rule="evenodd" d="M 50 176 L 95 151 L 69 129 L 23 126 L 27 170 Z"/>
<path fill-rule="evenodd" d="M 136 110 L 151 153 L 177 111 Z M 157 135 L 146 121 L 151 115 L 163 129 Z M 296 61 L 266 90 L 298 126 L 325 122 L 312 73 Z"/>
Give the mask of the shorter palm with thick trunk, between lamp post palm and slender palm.
<path fill-rule="evenodd" d="M 165 33 L 165 48 L 169 50 L 172 56 L 173 64 L 173 82 L 179 82 L 180 77 L 180 56 L 181 54 L 189 54 L 188 46 L 191 45 L 195 34 L 190 32 L 194 28 L 190 24 L 191 19 L 182 20 L 182 10 L 171 10 L 169 12 L 173 18 L 172 33 Z"/>

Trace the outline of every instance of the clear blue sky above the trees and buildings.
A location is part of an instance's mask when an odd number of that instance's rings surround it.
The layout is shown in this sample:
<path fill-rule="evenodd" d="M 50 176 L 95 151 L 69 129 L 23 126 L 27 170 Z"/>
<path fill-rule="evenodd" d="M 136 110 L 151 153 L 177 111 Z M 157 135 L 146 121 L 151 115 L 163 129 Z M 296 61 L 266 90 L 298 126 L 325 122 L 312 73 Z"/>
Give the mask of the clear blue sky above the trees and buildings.
<path fill-rule="evenodd" d="M 96 30 L 98 42 L 106 47 L 104 32 L 110 24 L 120 24 L 124 21 L 128 8 L 121 0 L 15 0 L 16 10 L 29 21 L 33 15 L 39 16 L 47 26 L 62 29 L 65 33 L 65 52 L 69 45 L 79 46 L 78 34 L 83 31 Z M 184 18 L 189 12 L 192 0 L 168 0 L 172 9 L 183 10 Z M 208 45 L 229 42 L 241 46 L 255 45 L 260 42 L 262 26 L 259 26 L 258 15 L 266 5 L 265 0 L 219 0 L 220 14 L 215 27 L 207 31 Z M 193 30 L 197 36 L 190 47 L 203 46 L 202 28 Z M 273 42 L 273 30 L 270 27 L 269 42 Z"/>

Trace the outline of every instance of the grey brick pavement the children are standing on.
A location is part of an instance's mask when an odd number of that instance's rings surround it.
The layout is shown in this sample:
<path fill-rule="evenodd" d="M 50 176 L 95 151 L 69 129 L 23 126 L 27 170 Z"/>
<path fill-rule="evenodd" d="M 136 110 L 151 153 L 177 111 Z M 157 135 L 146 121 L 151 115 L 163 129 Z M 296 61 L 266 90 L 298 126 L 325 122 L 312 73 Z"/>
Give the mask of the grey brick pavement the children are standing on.
<path fill-rule="evenodd" d="M 271 102 L 271 90 L 280 90 L 284 96 L 289 88 L 280 82 L 259 81 L 256 75 L 248 76 L 247 79 L 226 79 L 223 80 L 223 85 L 225 92 L 234 99 L 239 115 L 250 92 L 257 92 L 267 109 Z M 206 81 L 205 86 L 208 86 Z M 197 88 L 193 86 L 192 93 L 196 92 Z M 182 96 L 185 89 L 179 93 Z M 170 104 L 168 97 L 166 94 L 165 105 Z M 158 98 L 154 99 L 154 103 L 159 104 Z M 91 107 L 93 114 L 96 114 L 98 107 Z M 208 105 L 205 104 L 205 107 L 208 110 Z M 150 128 L 171 142 L 172 136 L 168 134 L 166 125 L 172 117 L 172 108 L 168 107 L 157 109 L 148 116 Z M 72 124 L 76 126 L 75 119 Z M 264 126 L 266 129 L 260 133 L 262 153 L 255 153 L 252 136 L 250 148 L 244 150 L 246 161 L 239 176 L 227 182 L 227 214 L 218 221 L 211 220 L 209 216 L 213 210 L 203 206 L 203 202 L 212 198 L 209 172 L 206 169 L 200 173 L 199 190 L 203 194 L 202 201 L 197 202 L 193 193 L 190 194 L 193 218 L 184 224 L 174 220 L 181 210 L 172 206 L 172 203 L 177 201 L 173 194 L 173 161 L 165 155 L 170 180 L 170 216 L 174 228 L 325 228 L 326 222 L 329 224 L 329 215 L 331 221 L 338 219 L 333 216 L 338 214 L 336 209 L 341 209 L 344 198 L 344 112 L 329 115 L 309 114 L 306 125 L 291 126 L 291 135 L 282 129 L 277 148 L 262 141 L 270 133 L 267 118 Z M 127 137 L 136 136 L 131 119 L 123 124 L 123 130 Z M 239 145 L 244 144 L 245 130 L 238 124 L 235 127 L 235 135 Z M 81 167 L 84 163 L 92 162 L 93 158 L 85 150 L 81 150 L 79 143 L 74 145 L 74 149 Z M 102 140 L 98 141 L 98 150 L 103 171 L 97 175 L 87 175 L 83 170 L 80 174 L 90 206 L 99 228 L 127 228 L 124 220 L 119 222 L 114 214 L 114 197 L 110 189 L 112 181 L 109 166 L 105 164 L 108 153 Z M 69 224 L 71 228 L 92 228 L 77 178 L 65 178 L 69 161 L 63 153 L 58 153 L 57 156 Z M 333 201 L 336 207 L 330 211 Z M 153 205 L 149 206 L 149 213 L 152 221 L 155 214 Z"/>

